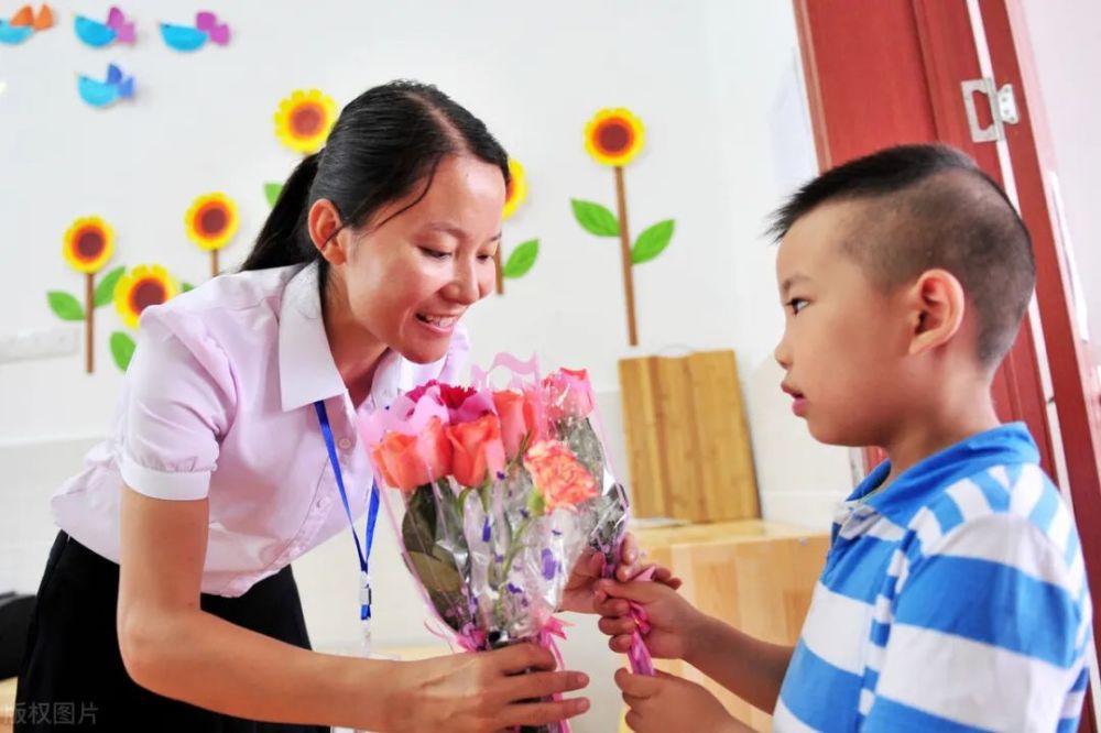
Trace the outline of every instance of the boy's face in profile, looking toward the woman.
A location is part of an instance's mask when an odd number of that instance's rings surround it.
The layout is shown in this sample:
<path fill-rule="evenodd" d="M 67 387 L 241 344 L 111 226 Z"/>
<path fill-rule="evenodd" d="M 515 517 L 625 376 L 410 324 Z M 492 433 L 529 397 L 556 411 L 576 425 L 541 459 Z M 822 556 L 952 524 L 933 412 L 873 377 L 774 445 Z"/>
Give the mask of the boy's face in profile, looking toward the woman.
<path fill-rule="evenodd" d="M 838 201 L 811 210 L 792 226 L 776 259 L 783 389 L 810 434 L 833 445 L 882 445 L 913 398 L 903 298 L 876 288 L 842 247 L 866 229 L 859 226 L 866 207 Z"/>

